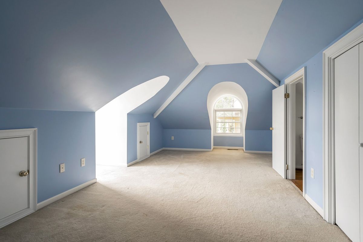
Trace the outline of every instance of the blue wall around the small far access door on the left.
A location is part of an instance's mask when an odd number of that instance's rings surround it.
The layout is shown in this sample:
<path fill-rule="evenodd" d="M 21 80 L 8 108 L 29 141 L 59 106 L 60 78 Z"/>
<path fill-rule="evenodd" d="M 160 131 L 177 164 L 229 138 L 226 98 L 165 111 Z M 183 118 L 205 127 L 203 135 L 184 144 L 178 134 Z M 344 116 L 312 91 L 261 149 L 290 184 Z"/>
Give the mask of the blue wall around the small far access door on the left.
<path fill-rule="evenodd" d="M 127 163 L 137 160 L 137 123 L 150 122 L 150 153 L 163 148 L 163 127 L 152 114 L 127 114 Z"/>

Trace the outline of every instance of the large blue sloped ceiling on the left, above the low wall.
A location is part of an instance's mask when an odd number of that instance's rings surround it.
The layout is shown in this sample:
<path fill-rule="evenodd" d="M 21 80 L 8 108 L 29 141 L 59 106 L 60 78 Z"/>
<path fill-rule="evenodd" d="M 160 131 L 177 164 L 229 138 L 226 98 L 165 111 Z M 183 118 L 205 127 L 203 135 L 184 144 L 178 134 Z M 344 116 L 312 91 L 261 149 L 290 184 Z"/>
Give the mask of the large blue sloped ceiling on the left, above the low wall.
<path fill-rule="evenodd" d="M 159 0 L 1 1 L 0 107 L 96 111 L 160 75 L 165 99 L 197 65 Z"/>

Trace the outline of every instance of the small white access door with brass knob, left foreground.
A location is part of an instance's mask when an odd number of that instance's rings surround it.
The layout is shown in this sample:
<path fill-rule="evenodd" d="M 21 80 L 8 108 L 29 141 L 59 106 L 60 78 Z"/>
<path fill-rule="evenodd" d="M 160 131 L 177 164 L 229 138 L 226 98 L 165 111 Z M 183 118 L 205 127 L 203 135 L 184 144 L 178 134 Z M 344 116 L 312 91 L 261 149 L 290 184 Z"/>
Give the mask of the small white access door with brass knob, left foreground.
<path fill-rule="evenodd" d="M 28 154 L 28 137 L 0 139 L 0 221 L 29 208 Z"/>

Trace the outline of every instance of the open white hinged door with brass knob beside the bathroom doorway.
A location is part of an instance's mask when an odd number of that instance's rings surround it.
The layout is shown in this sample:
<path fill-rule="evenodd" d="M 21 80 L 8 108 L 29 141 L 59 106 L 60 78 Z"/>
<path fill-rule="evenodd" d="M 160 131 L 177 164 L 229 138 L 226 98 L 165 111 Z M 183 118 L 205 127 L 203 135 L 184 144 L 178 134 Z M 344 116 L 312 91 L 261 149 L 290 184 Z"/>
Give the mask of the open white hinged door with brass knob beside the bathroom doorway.
<path fill-rule="evenodd" d="M 272 168 L 286 178 L 286 85 L 272 90 Z"/>

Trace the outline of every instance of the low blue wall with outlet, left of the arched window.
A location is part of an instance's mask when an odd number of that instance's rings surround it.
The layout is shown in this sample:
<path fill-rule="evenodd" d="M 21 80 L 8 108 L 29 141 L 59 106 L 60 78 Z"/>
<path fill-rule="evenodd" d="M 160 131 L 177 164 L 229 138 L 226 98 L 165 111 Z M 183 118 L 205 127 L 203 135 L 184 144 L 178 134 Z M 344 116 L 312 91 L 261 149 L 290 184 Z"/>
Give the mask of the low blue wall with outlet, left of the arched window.
<path fill-rule="evenodd" d="M 211 149 L 211 130 L 164 129 L 163 138 L 164 148 Z"/>

